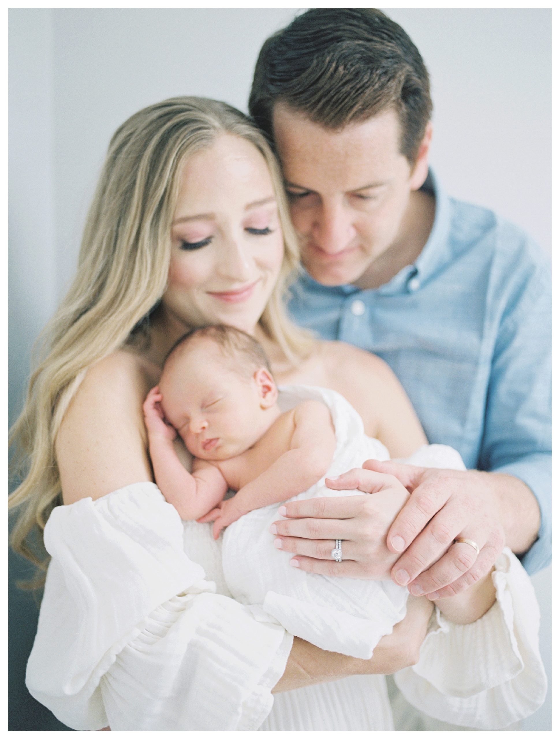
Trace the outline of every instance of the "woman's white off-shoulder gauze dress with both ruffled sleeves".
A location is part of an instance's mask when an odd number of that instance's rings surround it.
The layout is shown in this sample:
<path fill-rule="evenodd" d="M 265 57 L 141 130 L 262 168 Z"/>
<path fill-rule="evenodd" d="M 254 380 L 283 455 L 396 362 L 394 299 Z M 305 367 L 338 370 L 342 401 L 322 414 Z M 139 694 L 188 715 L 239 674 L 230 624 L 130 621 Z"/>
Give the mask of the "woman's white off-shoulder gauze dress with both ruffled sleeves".
<path fill-rule="evenodd" d="M 292 637 L 233 600 L 211 525 L 182 522 L 153 483 L 55 508 L 27 687 L 78 730 L 393 729 L 383 675 L 271 695 Z M 497 602 L 474 624 L 437 612 L 414 667 L 395 675 L 428 715 L 501 729 L 544 701 L 539 609 L 507 549 Z"/>

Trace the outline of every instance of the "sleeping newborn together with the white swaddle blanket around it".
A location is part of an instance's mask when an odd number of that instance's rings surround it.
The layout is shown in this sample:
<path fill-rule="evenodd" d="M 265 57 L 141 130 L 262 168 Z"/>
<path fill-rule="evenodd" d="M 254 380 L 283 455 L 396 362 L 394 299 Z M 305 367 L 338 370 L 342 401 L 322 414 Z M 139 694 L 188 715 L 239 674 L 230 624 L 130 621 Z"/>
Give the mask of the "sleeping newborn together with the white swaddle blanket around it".
<path fill-rule="evenodd" d="M 214 521 L 215 539 L 228 527 L 222 566 L 232 596 L 321 649 L 371 657 L 404 618 L 406 588 L 290 567 L 292 555 L 274 548 L 270 534 L 288 499 L 366 494 L 325 483 L 327 474 L 389 459 L 385 446 L 366 436 L 355 409 L 333 390 L 278 389 L 259 343 L 225 326 L 177 341 L 143 407 L 165 499 L 183 520 Z M 174 449 L 177 433 L 194 456 L 192 474 Z M 412 461 L 465 469 L 454 449 L 440 445 L 421 447 Z M 237 492 L 224 500 L 228 489 Z M 407 497 L 404 490 L 403 497 L 395 494 L 395 515 Z"/>

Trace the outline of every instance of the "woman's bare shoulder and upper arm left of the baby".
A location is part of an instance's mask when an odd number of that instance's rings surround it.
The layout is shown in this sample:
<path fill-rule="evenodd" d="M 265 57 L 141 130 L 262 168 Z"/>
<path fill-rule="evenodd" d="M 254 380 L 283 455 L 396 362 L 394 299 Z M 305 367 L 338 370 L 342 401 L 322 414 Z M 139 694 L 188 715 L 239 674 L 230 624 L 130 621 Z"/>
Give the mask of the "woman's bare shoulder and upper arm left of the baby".
<path fill-rule="evenodd" d="M 56 438 L 65 503 L 151 480 L 142 403 L 157 368 L 115 352 L 89 367 Z"/>

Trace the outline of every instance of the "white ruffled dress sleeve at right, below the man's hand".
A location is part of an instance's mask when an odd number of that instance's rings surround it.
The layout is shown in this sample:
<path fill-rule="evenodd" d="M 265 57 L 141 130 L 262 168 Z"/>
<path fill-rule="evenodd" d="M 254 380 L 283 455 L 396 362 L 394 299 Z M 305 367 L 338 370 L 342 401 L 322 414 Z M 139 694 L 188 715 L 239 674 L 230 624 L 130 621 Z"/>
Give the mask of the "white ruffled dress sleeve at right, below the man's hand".
<path fill-rule="evenodd" d="M 533 585 L 507 548 L 492 579 L 496 603 L 481 619 L 453 624 L 436 609 L 419 661 L 395 674 L 406 700 L 440 721 L 504 729 L 544 702 Z"/>

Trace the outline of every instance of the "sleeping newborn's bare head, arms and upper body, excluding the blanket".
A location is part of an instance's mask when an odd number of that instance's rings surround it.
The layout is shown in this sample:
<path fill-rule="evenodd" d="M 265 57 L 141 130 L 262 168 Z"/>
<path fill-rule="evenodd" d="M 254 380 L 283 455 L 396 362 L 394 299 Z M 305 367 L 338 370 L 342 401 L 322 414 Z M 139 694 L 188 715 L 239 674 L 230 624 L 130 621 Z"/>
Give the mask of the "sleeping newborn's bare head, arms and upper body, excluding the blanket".
<path fill-rule="evenodd" d="M 143 409 L 157 486 L 183 520 L 215 519 L 214 539 L 243 514 L 306 491 L 335 452 L 327 406 L 306 400 L 281 412 L 262 347 L 232 327 L 181 338 Z M 192 474 L 174 450 L 177 433 Z M 224 500 L 228 489 L 237 494 Z"/>

